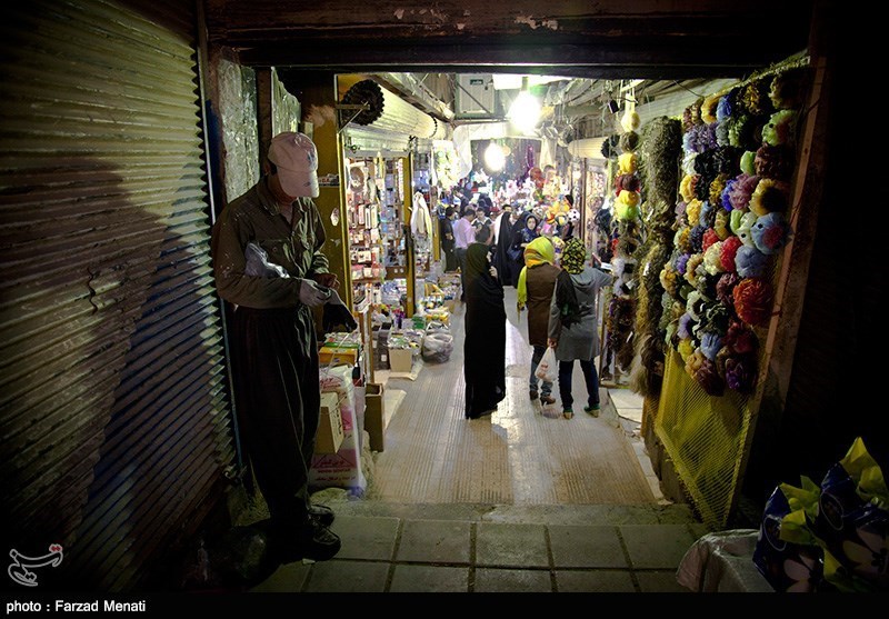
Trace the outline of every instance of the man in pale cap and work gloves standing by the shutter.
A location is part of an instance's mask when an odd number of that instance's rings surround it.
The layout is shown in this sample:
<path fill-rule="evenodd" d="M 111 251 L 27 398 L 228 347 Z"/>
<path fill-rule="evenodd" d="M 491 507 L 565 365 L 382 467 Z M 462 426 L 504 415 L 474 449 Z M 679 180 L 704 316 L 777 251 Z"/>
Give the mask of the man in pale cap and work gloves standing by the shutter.
<path fill-rule="evenodd" d="M 219 296 L 234 306 L 234 398 L 247 456 L 284 561 L 327 560 L 340 549 L 333 511 L 309 500 L 320 385 L 312 308 L 338 288 L 320 249 L 318 152 L 302 133 L 276 136 L 264 176 L 213 226 Z M 333 294 L 332 297 L 336 297 Z"/>

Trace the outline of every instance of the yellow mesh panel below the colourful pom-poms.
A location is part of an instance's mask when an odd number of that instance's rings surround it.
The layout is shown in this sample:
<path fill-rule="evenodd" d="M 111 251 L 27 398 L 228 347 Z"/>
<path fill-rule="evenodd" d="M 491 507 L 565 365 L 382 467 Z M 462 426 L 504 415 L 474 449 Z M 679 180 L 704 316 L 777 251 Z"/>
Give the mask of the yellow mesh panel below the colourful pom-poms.
<path fill-rule="evenodd" d="M 725 528 L 750 428 L 748 397 L 708 396 L 675 350 L 665 365 L 655 431 L 705 525 Z"/>

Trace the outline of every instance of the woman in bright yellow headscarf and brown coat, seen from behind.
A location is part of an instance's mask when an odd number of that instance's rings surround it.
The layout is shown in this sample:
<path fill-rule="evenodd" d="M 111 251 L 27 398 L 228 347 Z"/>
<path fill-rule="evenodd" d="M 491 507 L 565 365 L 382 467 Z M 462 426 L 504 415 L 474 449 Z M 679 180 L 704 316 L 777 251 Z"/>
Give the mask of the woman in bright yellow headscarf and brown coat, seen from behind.
<path fill-rule="evenodd" d="M 549 306 L 559 268 L 555 266 L 556 248 L 546 237 L 539 237 L 525 248 L 525 268 L 519 273 L 519 311 L 528 308 L 528 343 L 533 347 L 531 355 L 531 376 L 528 379 L 528 397 L 538 397 L 539 379 L 535 376 L 543 352 L 547 351 L 547 329 L 549 327 Z M 551 396 L 552 383 L 543 382 L 540 401 L 545 405 L 556 402 Z"/>

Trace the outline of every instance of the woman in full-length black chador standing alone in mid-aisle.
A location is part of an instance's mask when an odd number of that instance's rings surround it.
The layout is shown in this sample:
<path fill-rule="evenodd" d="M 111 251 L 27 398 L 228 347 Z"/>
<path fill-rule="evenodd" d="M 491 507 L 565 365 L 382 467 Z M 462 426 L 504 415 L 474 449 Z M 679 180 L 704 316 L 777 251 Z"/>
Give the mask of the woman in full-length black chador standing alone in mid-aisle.
<path fill-rule="evenodd" d="M 472 243 L 466 252 L 463 377 L 467 419 L 491 415 L 507 391 L 503 287 L 491 273 L 493 268 L 488 257 L 485 243 Z"/>

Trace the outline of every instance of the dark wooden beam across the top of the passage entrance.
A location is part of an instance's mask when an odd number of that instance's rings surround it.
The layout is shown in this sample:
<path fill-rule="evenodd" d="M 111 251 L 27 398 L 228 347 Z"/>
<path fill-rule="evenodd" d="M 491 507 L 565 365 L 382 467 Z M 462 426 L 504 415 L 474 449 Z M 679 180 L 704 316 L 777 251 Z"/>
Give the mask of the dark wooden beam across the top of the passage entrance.
<path fill-rule="evenodd" d="M 248 66 L 687 79 L 805 50 L 811 12 L 811 0 L 208 0 L 207 24 Z"/>

